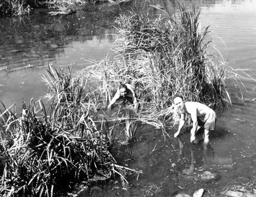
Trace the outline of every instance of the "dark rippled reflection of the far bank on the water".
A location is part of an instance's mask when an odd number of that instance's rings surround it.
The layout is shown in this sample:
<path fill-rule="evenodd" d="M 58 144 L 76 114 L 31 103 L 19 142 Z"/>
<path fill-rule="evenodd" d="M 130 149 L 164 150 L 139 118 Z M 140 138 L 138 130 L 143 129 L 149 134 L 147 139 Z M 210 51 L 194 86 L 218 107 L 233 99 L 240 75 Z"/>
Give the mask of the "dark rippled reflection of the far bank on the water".
<path fill-rule="evenodd" d="M 17 20 L 2 19 L 1 69 L 14 71 L 14 67 L 45 66 L 49 61 L 65 57 L 65 48 L 73 48 L 79 43 L 95 47 L 102 40 L 113 42 L 112 25 L 107 25 L 104 16 L 97 15 L 96 20 L 95 15 L 79 11 L 76 15 L 63 17 L 33 15 Z"/>

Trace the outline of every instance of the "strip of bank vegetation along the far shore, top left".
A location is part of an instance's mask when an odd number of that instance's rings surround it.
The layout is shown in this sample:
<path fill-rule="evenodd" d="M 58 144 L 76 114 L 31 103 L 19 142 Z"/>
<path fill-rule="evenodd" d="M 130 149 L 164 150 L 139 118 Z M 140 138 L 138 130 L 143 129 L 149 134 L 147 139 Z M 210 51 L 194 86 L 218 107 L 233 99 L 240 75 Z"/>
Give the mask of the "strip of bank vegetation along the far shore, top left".
<path fill-rule="evenodd" d="M 33 13 L 37 8 L 55 9 L 58 11 L 69 10 L 77 5 L 100 4 L 114 2 L 108 0 L 1 0 L 0 17 L 20 16 Z"/>

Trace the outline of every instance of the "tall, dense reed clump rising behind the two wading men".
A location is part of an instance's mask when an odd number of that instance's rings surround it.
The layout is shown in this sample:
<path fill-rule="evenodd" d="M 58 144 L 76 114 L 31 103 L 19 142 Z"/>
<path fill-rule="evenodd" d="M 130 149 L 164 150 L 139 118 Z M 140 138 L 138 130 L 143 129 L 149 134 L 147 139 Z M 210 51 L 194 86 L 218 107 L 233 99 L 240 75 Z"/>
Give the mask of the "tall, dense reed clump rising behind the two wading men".
<path fill-rule="evenodd" d="M 120 82 L 132 83 L 140 102 L 160 117 L 172 114 L 175 93 L 215 109 L 231 102 L 225 86 L 228 66 L 207 51 L 209 27 L 200 29 L 200 11 L 178 8 L 155 20 L 135 12 L 117 18 L 117 56 L 100 65 L 108 91 Z"/>

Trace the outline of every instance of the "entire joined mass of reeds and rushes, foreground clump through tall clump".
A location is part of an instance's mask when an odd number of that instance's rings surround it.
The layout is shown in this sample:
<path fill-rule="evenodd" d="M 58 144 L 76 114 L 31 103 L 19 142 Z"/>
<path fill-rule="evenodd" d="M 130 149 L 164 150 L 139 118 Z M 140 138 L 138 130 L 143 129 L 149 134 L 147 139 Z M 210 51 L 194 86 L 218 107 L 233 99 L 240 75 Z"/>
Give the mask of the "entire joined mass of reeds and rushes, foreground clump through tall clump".
<path fill-rule="evenodd" d="M 177 14 L 166 12 L 156 20 L 135 12 L 122 15 L 117 19 L 116 56 L 75 78 L 71 70 L 49 67 L 43 77 L 49 109 L 42 101 L 24 102 L 19 114 L 15 106 L 3 105 L 1 195 L 54 196 L 95 175 L 126 182 L 130 169 L 119 166 L 111 154 L 117 136 L 123 134 L 129 143 L 138 122 L 159 128 L 165 136 L 162 120 L 177 116 L 175 93 L 214 109 L 229 104 L 229 68 L 207 51 L 209 31 L 200 28 L 199 14 L 180 5 Z M 111 118 L 103 109 L 120 83 L 136 87 L 140 109 L 134 114 L 119 109 Z"/>

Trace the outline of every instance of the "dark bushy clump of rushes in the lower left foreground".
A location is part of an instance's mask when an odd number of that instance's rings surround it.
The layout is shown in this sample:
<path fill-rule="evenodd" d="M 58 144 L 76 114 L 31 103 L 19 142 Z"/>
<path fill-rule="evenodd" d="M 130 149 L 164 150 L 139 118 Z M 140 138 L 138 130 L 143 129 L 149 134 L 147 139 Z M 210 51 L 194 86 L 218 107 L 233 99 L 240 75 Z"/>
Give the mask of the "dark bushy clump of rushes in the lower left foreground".
<path fill-rule="evenodd" d="M 111 137 L 90 118 L 92 104 L 81 102 L 85 86 L 72 83 L 70 73 L 48 73 L 49 111 L 41 101 L 24 102 L 21 114 L 14 106 L 1 111 L 1 196 L 55 196 L 94 175 L 126 181 L 110 153 Z"/>

